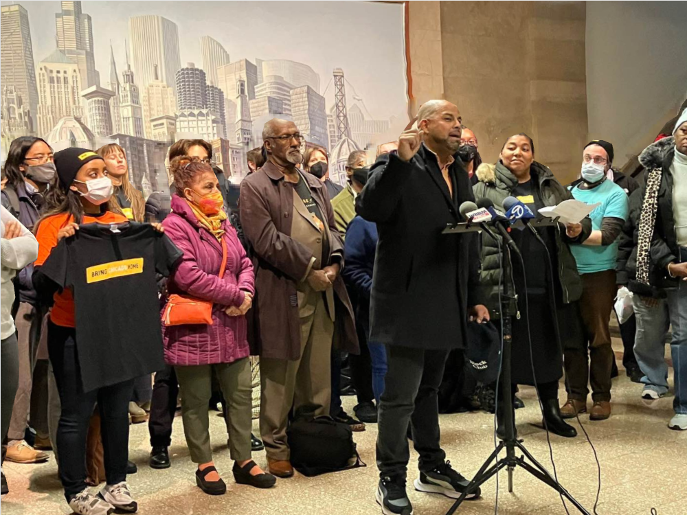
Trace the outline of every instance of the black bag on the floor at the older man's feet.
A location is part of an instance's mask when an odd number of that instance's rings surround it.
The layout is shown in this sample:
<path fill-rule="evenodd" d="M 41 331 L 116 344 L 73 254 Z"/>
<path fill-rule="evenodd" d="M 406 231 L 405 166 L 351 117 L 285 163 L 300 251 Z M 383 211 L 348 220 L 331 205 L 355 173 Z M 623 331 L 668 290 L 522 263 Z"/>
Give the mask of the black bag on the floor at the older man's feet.
<path fill-rule="evenodd" d="M 287 431 L 291 466 L 306 477 L 365 467 L 348 424 L 332 417 L 309 417 L 291 422 Z M 354 464 L 351 462 L 355 460 Z"/>

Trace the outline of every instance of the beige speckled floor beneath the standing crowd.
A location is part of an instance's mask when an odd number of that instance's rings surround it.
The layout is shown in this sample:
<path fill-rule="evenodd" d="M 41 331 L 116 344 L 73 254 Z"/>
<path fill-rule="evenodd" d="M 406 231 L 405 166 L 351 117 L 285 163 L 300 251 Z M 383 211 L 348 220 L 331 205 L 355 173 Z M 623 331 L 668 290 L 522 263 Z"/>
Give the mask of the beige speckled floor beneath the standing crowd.
<path fill-rule="evenodd" d="M 602 490 L 596 513 L 599 515 L 685 515 L 687 507 L 687 433 L 668 430 L 672 398 L 647 407 L 639 396 L 640 386 L 629 382 L 624 372 L 613 386 L 613 416 L 605 422 L 582 422 L 592 439 L 601 463 Z M 541 415 L 532 388 L 522 388 L 527 407 L 517 413 L 519 434 L 530 452 L 552 470 L 546 435 L 536 424 Z M 563 398 L 563 392 L 561 392 Z M 346 405 L 352 407 L 352 398 Z M 484 413 L 442 415 L 442 442 L 455 468 L 466 476 L 474 474 L 493 450 L 493 417 Z M 226 448 L 225 428 L 220 418 L 212 416 L 212 436 L 216 464 L 229 482 L 227 495 L 211 498 L 194 483 L 194 466 L 183 441 L 181 419 L 177 418 L 172 446 L 173 463 L 169 470 L 151 470 L 146 465 L 148 439 L 145 424 L 131 432 L 131 459 L 139 472 L 129 478 L 139 501 L 142 515 L 367 515 L 379 514 L 374 502 L 376 467 L 374 442 L 376 426 L 357 433 L 356 441 L 367 468 L 328 474 L 308 479 L 297 476 L 280 480 L 269 491 L 254 490 L 232 482 L 232 461 Z M 594 453 L 583 435 L 576 439 L 552 436 L 556 470 L 561 483 L 589 513 L 594 513 L 597 467 Z M 416 455 L 410 478 L 416 476 Z M 256 456 L 265 464 L 264 454 Z M 8 464 L 5 474 L 10 494 L 3 499 L 3 515 L 67 514 L 53 462 L 41 466 Z M 515 472 L 515 493 L 508 494 L 506 474 L 499 477 L 498 510 L 501 514 L 565 514 L 558 494 L 539 483 L 523 470 Z M 482 499 L 466 503 L 458 514 L 477 515 L 495 512 L 496 483 L 484 487 Z M 444 515 L 451 501 L 439 496 L 410 492 L 415 513 Z M 568 504 L 570 514 L 577 513 Z"/>

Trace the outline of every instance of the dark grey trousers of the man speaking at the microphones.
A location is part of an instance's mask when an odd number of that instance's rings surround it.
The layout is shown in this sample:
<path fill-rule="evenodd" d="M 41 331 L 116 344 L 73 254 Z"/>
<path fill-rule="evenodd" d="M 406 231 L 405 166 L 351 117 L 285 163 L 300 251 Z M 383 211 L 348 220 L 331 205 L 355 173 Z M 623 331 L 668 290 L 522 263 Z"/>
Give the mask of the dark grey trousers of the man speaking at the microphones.
<path fill-rule="evenodd" d="M 449 352 L 387 346 L 387 375 L 379 406 L 377 467 L 380 477 L 405 479 L 412 424 L 420 471 L 433 470 L 446 459 L 440 444 L 437 393 Z"/>

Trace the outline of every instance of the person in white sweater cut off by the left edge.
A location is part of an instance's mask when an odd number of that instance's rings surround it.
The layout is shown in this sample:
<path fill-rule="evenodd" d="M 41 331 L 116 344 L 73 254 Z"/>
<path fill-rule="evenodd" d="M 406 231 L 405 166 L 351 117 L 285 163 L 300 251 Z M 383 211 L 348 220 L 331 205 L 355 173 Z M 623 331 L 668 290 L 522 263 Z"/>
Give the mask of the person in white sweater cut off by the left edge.
<path fill-rule="evenodd" d="M 12 406 L 19 382 L 19 351 L 16 343 L 12 305 L 14 304 L 14 284 L 12 278 L 17 271 L 38 257 L 38 242 L 26 227 L 14 218 L 10 211 L 1 207 L 2 222 L 1 272 L 0 272 L 0 337 L 1 337 L 1 425 L 2 438 L 7 436 Z M 2 494 L 7 493 L 5 474 L 2 474 Z"/>

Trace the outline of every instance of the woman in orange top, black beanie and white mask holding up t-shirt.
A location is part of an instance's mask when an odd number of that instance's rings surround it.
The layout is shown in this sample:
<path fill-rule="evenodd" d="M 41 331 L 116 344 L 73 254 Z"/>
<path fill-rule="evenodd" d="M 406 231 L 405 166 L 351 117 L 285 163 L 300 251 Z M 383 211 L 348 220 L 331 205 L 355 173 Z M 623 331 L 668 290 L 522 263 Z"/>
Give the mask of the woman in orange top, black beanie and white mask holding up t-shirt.
<path fill-rule="evenodd" d="M 83 391 L 81 370 L 87 367 L 76 352 L 74 297 L 71 290 L 58 290 L 41 273 L 60 240 L 74 236 L 79 225 L 123 223 L 120 207 L 111 201 L 113 185 L 102 157 L 84 148 L 67 148 L 55 154 L 57 178 L 46 197 L 46 214 L 36 223 L 38 259 L 34 264 L 34 286 L 43 297 L 54 294 L 48 323 L 48 352 L 55 374 L 62 413 L 57 433 L 60 479 L 69 507 L 78 515 L 135 512 L 137 503 L 126 485 L 128 459 L 128 402 L 133 380 Z M 98 323 L 93 320 L 93 323 Z M 86 484 L 86 439 L 93 407 L 98 402 L 102 417 L 106 486 L 100 495 L 89 493 Z"/>

